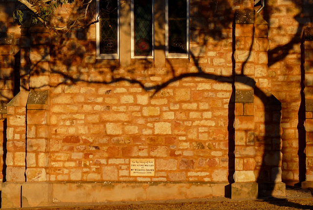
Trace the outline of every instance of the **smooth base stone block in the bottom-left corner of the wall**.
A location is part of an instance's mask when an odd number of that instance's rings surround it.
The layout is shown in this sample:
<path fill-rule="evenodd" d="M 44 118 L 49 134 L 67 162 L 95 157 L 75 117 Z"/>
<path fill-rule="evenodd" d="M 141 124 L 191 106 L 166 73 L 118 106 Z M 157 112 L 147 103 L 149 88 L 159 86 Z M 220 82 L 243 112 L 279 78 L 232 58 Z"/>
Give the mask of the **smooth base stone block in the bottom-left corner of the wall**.
<path fill-rule="evenodd" d="M 1 189 L 1 208 L 21 208 L 22 182 L 4 182 Z"/>

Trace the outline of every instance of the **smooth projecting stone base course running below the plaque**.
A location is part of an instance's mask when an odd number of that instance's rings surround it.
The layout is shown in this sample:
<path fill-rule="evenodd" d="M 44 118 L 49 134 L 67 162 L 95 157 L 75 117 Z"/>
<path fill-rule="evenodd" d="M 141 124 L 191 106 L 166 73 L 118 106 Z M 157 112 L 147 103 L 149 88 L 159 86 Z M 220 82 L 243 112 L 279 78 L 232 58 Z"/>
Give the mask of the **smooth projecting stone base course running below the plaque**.
<path fill-rule="evenodd" d="M 226 185 L 228 182 L 11 182 L 2 183 L 2 208 L 206 198 L 224 196 Z"/>

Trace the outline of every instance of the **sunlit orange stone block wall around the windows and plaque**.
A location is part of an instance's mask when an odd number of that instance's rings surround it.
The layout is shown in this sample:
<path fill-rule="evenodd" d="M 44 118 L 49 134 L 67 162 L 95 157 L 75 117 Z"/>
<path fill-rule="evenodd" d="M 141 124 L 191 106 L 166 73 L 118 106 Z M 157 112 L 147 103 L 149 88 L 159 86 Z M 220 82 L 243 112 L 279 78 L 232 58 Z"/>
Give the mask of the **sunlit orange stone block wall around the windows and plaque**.
<path fill-rule="evenodd" d="M 14 47 L 21 92 L 2 114 L 2 207 L 113 201 L 101 195 L 129 188 L 136 193 L 123 199 L 229 189 L 233 198 L 283 195 L 284 183 L 310 178 L 312 116 L 303 103 L 312 78 L 302 68 L 310 68 L 312 50 L 308 41 L 301 48 L 301 33 L 312 15 L 298 16 L 302 4 L 293 1 L 268 1 L 261 14 L 252 1 L 236 2 L 190 1 L 189 59 L 165 58 L 162 3 L 154 59 L 131 59 L 128 24 L 119 59 L 96 58 L 94 25 L 64 34 L 23 25 Z M 73 15 L 68 8 L 59 14 Z M 132 176 L 133 158 L 153 160 L 155 174 Z M 76 197 L 91 182 L 94 193 Z M 48 193 L 32 193 L 41 188 Z"/>

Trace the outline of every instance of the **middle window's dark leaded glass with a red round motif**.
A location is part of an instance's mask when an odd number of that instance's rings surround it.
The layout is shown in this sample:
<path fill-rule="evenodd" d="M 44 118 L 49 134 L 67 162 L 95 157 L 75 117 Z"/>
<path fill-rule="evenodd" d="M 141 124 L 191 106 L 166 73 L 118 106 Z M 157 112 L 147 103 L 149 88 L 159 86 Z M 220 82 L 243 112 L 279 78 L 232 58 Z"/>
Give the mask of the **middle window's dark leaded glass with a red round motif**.
<path fill-rule="evenodd" d="M 152 55 L 152 0 L 134 0 L 134 55 Z"/>

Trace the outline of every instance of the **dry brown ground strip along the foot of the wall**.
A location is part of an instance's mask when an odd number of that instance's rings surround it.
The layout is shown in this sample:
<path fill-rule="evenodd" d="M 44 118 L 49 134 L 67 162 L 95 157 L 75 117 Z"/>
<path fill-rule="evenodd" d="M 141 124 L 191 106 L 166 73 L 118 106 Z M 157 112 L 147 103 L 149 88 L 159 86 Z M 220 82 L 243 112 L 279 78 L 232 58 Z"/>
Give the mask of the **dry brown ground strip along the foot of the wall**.
<path fill-rule="evenodd" d="M 55 205 L 58 205 L 57 203 Z M 60 205 L 60 204 L 59 204 Z M 22 210 L 313 210 L 313 196 L 309 189 L 287 187 L 286 196 L 258 200 L 231 200 L 225 197 L 170 201 L 108 202 L 62 204 L 49 208 Z M 16 210 L 16 209 L 15 209 Z"/>

